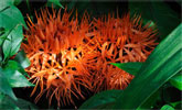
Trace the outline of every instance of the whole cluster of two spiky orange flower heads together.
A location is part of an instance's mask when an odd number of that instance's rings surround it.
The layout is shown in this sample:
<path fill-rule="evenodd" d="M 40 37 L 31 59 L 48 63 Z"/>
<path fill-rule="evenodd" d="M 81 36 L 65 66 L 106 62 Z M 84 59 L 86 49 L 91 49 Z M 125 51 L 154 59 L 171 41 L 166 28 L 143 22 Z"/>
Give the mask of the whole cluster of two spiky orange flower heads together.
<path fill-rule="evenodd" d="M 50 103 L 55 96 L 57 106 L 73 102 L 72 96 L 83 95 L 83 87 L 92 91 L 125 89 L 132 75 L 109 63 L 144 62 L 156 43 L 156 32 L 142 26 L 140 16 L 122 19 L 111 16 L 89 22 L 85 13 L 78 22 L 66 10 L 35 12 L 38 23 L 30 20 L 22 43 L 31 61 L 26 72 L 35 84 L 32 95 L 40 87 L 35 101 L 46 91 Z M 106 20 L 107 19 L 107 20 Z"/>

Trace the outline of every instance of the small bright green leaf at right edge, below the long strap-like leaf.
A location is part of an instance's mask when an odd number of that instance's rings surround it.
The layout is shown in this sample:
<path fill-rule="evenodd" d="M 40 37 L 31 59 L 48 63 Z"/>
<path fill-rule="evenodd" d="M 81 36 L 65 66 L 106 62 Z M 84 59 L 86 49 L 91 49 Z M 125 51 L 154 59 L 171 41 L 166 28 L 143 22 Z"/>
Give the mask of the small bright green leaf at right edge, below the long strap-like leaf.
<path fill-rule="evenodd" d="M 174 86 L 179 90 L 182 90 L 182 74 L 179 73 L 178 75 L 175 75 L 174 77 L 172 77 L 170 79 L 170 82 L 171 82 L 172 86 Z"/>

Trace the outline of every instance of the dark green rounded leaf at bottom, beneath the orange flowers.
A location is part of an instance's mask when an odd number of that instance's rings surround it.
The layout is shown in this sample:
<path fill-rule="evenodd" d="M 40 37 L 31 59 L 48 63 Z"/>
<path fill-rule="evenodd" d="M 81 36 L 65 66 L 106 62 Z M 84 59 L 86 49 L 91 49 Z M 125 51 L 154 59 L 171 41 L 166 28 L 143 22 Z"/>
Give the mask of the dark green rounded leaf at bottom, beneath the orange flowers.
<path fill-rule="evenodd" d="M 79 109 L 106 109 L 106 107 L 109 109 L 121 92 L 121 90 L 107 90 L 99 92 L 84 102 Z"/>

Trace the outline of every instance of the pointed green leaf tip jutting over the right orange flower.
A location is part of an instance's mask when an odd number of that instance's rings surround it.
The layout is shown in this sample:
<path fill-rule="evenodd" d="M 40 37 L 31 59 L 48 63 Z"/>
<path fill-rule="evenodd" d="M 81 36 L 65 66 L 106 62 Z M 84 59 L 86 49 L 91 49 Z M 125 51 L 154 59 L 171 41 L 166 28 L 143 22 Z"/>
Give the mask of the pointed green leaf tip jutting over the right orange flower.
<path fill-rule="evenodd" d="M 131 75 L 136 75 L 142 66 L 142 63 L 139 63 L 139 62 L 136 62 L 136 63 L 110 63 L 110 64 L 121 68 L 122 70 L 125 70 Z"/>

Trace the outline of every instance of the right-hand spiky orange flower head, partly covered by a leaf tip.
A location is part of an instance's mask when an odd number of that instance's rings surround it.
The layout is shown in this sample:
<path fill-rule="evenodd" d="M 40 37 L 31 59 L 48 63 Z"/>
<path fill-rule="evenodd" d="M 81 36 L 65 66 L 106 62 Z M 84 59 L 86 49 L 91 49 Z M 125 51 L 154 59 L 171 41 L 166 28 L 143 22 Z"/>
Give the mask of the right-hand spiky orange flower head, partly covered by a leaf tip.
<path fill-rule="evenodd" d="M 157 31 L 149 25 L 142 25 L 141 15 L 130 18 L 129 13 L 122 18 L 108 14 L 107 18 L 95 19 L 93 41 L 97 45 L 97 58 L 93 62 L 96 72 L 93 82 L 96 91 L 128 86 L 133 76 L 110 63 L 144 62 L 158 44 Z"/>

